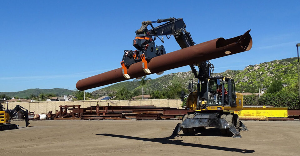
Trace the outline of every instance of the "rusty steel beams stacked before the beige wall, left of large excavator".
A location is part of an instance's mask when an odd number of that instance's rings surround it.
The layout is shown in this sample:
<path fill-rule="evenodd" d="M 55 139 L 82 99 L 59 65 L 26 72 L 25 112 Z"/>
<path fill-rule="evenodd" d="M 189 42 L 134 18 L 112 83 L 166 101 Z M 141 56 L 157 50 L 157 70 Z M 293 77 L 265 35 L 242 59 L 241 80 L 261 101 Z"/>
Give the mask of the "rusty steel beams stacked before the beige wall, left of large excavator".
<path fill-rule="evenodd" d="M 187 114 L 188 110 L 178 110 L 170 107 L 146 106 L 91 106 L 80 108 L 76 106 L 59 106 L 56 120 L 78 119 L 174 119 L 176 116 Z M 69 112 L 68 112 L 69 111 Z"/>

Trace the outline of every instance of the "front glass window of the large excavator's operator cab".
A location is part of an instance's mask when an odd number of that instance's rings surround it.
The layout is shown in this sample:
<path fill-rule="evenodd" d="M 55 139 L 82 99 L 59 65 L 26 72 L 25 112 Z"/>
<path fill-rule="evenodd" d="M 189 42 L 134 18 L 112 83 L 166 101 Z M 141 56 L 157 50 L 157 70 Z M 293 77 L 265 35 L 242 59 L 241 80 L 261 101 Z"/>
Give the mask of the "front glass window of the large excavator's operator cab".
<path fill-rule="evenodd" d="M 218 83 L 222 84 L 221 81 L 217 82 L 217 80 L 208 81 L 208 105 L 222 105 L 222 97 L 217 93 Z"/>

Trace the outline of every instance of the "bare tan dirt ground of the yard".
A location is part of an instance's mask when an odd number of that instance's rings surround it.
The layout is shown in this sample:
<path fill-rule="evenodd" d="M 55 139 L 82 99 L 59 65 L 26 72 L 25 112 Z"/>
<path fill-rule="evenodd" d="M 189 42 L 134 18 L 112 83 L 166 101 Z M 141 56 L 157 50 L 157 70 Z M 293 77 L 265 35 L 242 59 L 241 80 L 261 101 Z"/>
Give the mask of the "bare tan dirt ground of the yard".
<path fill-rule="evenodd" d="M 0 155 L 299 155 L 300 122 L 244 121 L 242 138 L 218 129 L 171 138 L 181 120 L 12 121 L 0 131 Z"/>

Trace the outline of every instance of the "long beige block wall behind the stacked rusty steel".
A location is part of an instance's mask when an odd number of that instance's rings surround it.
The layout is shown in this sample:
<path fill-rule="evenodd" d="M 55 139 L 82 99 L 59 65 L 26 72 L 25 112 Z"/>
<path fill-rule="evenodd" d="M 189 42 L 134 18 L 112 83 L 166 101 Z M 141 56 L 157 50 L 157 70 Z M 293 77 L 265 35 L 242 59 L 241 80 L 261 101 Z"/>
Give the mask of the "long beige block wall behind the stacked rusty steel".
<path fill-rule="evenodd" d="M 45 101 L 45 102 L 12 102 L 8 103 L 8 109 L 12 110 L 16 105 L 20 105 L 35 114 L 48 113 L 59 110 L 60 105 L 80 105 L 80 108 L 87 108 L 99 104 L 112 106 L 139 106 L 154 105 L 156 107 L 172 107 L 182 109 L 180 99 L 157 99 L 157 100 L 85 100 L 85 101 Z M 6 103 L 2 105 L 6 108 Z"/>

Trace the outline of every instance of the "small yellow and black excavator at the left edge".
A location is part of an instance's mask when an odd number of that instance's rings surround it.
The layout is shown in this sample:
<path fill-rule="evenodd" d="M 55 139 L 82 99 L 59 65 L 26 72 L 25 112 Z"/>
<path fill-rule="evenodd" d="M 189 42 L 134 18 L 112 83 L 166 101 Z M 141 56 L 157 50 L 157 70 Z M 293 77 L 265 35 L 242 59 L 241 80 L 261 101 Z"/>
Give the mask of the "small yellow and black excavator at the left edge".
<path fill-rule="evenodd" d="M 6 100 L 6 99 L 4 99 Z M 6 105 L 8 106 L 8 102 L 6 100 Z M 17 105 L 13 110 L 8 110 L 4 108 L 2 104 L 0 104 L 0 130 L 8 130 L 8 129 L 18 129 L 19 125 L 16 124 L 11 124 L 10 119 L 14 117 L 17 112 L 22 112 L 24 113 L 24 119 L 26 123 L 26 127 L 30 127 L 29 122 L 28 122 L 28 110 L 23 108 L 20 105 Z"/>

